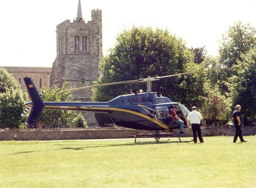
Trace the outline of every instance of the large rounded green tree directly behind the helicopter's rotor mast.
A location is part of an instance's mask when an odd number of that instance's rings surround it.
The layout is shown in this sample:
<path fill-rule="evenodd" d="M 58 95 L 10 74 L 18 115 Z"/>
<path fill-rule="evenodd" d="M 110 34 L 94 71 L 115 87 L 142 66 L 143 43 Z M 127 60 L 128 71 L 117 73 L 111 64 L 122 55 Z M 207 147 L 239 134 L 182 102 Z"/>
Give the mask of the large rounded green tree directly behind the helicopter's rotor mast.
<path fill-rule="evenodd" d="M 194 54 L 186 48 L 182 39 L 167 30 L 150 27 L 133 27 L 117 37 L 115 48 L 101 59 L 97 84 L 135 80 L 148 76 L 166 76 L 199 70 L 194 63 Z M 153 91 L 172 100 L 192 105 L 200 98 L 203 82 L 199 74 L 161 79 L 153 82 Z M 198 85 L 199 84 L 199 85 Z M 146 84 L 127 84 L 93 89 L 94 101 L 109 101 L 113 97 L 130 93 L 131 90 L 146 90 Z M 187 102 L 187 100 L 191 100 Z M 200 101 L 200 100 L 199 100 Z"/>

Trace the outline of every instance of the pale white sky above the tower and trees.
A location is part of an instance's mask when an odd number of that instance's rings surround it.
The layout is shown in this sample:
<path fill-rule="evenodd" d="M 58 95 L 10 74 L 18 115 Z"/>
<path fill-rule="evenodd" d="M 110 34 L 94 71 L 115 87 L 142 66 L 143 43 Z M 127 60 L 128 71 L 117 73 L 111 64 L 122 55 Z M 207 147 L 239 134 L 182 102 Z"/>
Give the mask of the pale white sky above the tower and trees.
<path fill-rule="evenodd" d="M 205 46 L 217 56 L 222 35 L 234 22 L 256 27 L 255 0 L 80 0 L 82 17 L 102 10 L 103 56 L 124 29 L 167 29 L 188 48 Z M 51 67 L 56 58 L 56 26 L 77 14 L 78 0 L 0 1 L 0 66 Z"/>

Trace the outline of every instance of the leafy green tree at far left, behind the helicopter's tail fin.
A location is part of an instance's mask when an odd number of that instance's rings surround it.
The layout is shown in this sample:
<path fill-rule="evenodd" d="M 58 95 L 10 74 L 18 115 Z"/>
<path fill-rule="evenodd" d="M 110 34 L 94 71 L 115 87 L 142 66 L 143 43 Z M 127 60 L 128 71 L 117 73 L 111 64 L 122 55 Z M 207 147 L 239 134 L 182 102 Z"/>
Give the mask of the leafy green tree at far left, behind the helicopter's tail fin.
<path fill-rule="evenodd" d="M 26 117 L 21 116 L 28 96 L 18 82 L 0 67 L 0 127 L 25 128 Z"/>

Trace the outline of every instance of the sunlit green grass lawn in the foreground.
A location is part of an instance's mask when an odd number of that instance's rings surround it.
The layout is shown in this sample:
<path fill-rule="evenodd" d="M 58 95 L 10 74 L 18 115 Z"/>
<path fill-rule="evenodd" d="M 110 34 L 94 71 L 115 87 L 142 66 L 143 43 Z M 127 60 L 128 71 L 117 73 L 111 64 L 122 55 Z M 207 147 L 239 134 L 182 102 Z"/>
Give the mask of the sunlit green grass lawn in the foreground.
<path fill-rule="evenodd" d="M 256 136 L 0 142 L 0 187 L 256 187 Z"/>

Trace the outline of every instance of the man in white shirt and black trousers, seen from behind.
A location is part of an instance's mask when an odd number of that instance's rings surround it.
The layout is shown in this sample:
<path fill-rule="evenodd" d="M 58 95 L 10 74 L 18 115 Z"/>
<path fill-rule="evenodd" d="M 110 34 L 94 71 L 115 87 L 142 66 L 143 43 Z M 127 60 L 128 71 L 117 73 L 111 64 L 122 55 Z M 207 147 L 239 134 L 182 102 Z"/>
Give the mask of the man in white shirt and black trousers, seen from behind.
<path fill-rule="evenodd" d="M 201 113 L 197 111 L 196 106 L 193 106 L 192 110 L 193 111 L 189 112 L 189 114 L 187 115 L 187 127 L 189 128 L 191 123 L 194 143 L 197 143 L 197 135 L 200 140 L 200 143 L 204 143 L 200 127 L 200 121 L 203 120 L 203 117 Z"/>

